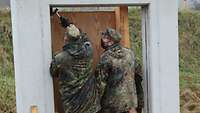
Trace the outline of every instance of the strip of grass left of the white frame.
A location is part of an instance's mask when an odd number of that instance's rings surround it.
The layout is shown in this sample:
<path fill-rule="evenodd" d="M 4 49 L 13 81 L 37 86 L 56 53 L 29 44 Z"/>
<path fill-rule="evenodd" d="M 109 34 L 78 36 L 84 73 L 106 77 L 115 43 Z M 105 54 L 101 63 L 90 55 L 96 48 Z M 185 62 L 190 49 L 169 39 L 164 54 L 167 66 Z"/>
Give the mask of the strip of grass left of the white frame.
<path fill-rule="evenodd" d="M 0 11 L 0 113 L 16 113 L 10 11 Z"/>

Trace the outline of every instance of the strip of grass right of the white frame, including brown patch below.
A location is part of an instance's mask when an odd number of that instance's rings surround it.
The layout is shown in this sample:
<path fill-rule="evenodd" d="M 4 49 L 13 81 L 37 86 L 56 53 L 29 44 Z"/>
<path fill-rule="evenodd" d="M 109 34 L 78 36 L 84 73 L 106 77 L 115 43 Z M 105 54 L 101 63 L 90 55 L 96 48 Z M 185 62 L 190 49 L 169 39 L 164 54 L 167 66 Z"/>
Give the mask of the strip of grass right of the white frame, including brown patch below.
<path fill-rule="evenodd" d="M 182 113 L 200 113 L 200 12 L 179 13 Z"/>

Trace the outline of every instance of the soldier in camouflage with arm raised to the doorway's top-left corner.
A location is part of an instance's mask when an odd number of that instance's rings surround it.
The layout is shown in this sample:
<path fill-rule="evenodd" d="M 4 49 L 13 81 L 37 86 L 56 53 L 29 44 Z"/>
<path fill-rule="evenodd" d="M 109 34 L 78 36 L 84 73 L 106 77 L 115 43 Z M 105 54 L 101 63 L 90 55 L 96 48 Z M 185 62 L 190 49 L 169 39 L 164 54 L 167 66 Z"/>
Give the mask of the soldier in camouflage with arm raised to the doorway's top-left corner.
<path fill-rule="evenodd" d="M 100 109 L 96 79 L 92 73 L 92 45 L 68 19 L 57 14 L 66 29 L 65 45 L 51 62 L 52 76 L 59 77 L 65 113 L 95 113 Z"/>

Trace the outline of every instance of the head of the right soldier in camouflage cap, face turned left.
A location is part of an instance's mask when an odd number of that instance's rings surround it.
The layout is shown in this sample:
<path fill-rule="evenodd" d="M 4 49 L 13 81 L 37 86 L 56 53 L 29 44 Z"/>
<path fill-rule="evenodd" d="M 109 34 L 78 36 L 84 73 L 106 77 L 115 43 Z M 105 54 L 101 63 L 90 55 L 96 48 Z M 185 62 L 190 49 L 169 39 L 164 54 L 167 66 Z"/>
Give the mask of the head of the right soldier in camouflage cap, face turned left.
<path fill-rule="evenodd" d="M 102 32 L 101 46 L 104 49 L 119 43 L 121 40 L 121 34 L 115 29 L 107 28 L 105 32 Z"/>

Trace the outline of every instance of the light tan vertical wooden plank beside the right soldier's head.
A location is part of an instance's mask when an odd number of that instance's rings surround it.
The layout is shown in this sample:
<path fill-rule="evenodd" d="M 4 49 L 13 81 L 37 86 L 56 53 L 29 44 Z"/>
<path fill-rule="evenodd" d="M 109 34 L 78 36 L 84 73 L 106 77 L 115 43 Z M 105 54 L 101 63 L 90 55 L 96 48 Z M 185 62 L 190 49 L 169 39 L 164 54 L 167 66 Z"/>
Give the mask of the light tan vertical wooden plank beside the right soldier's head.
<path fill-rule="evenodd" d="M 130 48 L 129 24 L 128 24 L 128 6 L 116 8 L 116 29 L 121 33 L 121 44 Z"/>

